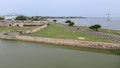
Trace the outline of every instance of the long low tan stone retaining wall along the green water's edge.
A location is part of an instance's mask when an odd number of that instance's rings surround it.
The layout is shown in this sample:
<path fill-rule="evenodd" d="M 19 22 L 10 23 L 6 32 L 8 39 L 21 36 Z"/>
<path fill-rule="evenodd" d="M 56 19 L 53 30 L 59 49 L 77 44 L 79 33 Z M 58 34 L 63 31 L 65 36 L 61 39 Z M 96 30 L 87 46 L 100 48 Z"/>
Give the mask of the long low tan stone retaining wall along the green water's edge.
<path fill-rule="evenodd" d="M 43 37 L 30 37 L 30 36 L 16 36 L 17 40 L 44 42 L 51 44 L 60 44 L 77 47 L 88 47 L 98 49 L 120 49 L 120 44 L 101 43 L 101 42 L 88 42 L 70 39 L 55 39 L 55 38 L 43 38 Z"/>

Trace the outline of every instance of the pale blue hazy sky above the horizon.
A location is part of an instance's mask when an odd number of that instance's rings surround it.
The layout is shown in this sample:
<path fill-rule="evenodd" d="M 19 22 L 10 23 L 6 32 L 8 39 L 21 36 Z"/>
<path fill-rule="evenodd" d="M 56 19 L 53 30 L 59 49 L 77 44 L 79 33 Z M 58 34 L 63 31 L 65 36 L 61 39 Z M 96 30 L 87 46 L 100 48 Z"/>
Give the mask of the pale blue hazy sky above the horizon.
<path fill-rule="evenodd" d="M 120 17 L 120 0 L 0 0 L 0 15 Z"/>

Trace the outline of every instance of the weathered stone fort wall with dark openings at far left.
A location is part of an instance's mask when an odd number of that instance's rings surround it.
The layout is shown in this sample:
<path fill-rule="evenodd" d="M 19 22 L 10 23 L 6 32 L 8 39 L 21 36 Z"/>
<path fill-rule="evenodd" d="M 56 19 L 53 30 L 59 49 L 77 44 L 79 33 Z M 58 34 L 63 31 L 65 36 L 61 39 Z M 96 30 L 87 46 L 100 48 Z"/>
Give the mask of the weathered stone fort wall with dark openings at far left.
<path fill-rule="evenodd" d="M 24 27 L 24 26 L 42 26 L 44 24 L 47 24 L 48 21 L 12 21 L 12 20 L 0 20 L 0 26 L 19 26 L 19 27 Z"/>

